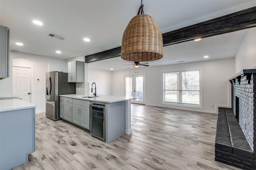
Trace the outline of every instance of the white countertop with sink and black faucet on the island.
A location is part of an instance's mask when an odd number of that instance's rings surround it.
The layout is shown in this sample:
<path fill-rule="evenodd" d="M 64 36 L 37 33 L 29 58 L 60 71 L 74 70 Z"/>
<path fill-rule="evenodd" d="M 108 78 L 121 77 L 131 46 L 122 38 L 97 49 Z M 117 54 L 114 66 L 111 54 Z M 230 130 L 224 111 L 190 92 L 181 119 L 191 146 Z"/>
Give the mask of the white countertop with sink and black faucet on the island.
<path fill-rule="evenodd" d="M 62 94 L 59 95 L 66 98 L 74 98 L 74 99 L 82 99 L 82 100 L 89 100 L 95 102 L 104 102 L 104 103 L 115 103 L 115 102 L 122 102 L 126 100 L 136 99 L 138 97 L 125 97 L 125 96 L 109 96 L 109 95 L 98 95 L 96 98 L 83 98 L 86 95 L 80 94 Z"/>

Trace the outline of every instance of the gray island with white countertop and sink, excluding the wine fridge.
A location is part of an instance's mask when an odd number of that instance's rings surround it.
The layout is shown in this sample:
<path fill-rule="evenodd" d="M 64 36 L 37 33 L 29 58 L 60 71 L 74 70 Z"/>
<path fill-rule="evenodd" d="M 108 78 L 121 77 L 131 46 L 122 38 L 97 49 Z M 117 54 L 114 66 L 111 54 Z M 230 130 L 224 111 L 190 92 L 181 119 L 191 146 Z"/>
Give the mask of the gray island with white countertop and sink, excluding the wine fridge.
<path fill-rule="evenodd" d="M 86 96 L 78 94 L 66 94 L 59 96 L 60 117 L 66 121 L 84 127 L 88 129 L 88 131 L 91 131 L 90 105 L 99 104 L 104 106 L 105 142 L 109 143 L 121 135 L 129 135 L 132 133 L 131 100 L 136 99 L 136 97 L 129 98 L 123 96 L 99 95 L 98 97 L 87 96 L 87 98 L 85 98 Z M 64 113 L 62 113 L 62 111 L 64 111 Z"/>

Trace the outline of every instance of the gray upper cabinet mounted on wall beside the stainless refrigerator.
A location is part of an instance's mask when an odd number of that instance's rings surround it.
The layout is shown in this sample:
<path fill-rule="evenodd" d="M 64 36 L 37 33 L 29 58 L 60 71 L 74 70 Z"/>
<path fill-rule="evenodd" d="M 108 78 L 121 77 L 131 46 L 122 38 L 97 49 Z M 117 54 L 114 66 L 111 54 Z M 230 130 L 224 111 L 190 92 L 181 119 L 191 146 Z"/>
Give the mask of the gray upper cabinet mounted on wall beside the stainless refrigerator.
<path fill-rule="evenodd" d="M 84 82 L 84 62 L 71 61 L 68 63 L 68 82 Z"/>

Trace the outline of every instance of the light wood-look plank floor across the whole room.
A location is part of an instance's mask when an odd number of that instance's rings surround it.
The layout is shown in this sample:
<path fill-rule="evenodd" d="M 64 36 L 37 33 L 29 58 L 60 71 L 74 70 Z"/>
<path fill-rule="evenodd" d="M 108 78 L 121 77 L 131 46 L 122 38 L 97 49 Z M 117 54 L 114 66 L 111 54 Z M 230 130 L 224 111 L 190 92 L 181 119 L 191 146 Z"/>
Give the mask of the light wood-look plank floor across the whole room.
<path fill-rule="evenodd" d="M 132 134 L 111 143 L 36 114 L 36 152 L 13 170 L 238 170 L 214 161 L 217 115 L 132 104 Z"/>

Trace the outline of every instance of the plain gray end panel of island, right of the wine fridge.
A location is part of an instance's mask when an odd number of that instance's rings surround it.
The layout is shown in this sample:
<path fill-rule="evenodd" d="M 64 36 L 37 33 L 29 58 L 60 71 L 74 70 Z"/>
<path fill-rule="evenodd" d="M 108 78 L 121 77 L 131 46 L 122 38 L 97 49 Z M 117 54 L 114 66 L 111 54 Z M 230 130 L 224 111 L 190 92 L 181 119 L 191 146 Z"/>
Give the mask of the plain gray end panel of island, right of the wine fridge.
<path fill-rule="evenodd" d="M 125 134 L 126 128 L 126 102 L 106 104 L 105 137 L 109 143 Z"/>

